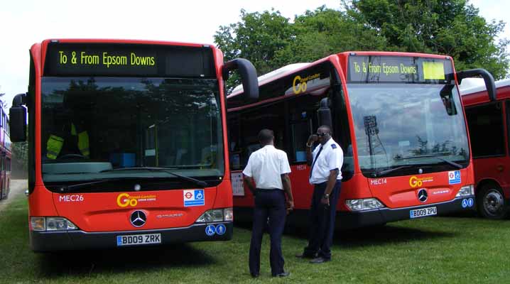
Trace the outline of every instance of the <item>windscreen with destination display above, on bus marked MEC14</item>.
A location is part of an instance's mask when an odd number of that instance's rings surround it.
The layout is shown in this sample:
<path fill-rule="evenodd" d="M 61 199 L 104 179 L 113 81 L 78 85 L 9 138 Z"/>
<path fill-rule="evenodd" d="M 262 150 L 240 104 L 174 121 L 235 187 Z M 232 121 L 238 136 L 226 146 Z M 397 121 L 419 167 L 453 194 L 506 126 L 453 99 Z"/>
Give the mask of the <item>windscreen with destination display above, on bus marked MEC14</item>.
<path fill-rule="evenodd" d="M 349 66 L 347 89 L 364 175 L 467 166 L 465 119 L 449 60 L 360 56 Z"/>

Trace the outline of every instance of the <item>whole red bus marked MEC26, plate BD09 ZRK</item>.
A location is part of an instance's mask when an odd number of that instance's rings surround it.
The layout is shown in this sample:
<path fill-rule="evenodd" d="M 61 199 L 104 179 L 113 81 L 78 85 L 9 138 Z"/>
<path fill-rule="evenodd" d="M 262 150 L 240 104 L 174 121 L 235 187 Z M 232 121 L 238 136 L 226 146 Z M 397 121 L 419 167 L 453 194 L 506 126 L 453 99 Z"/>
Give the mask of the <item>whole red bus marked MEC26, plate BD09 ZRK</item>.
<path fill-rule="evenodd" d="M 232 238 L 224 78 L 212 45 L 44 40 L 10 109 L 26 139 L 34 251 Z"/>

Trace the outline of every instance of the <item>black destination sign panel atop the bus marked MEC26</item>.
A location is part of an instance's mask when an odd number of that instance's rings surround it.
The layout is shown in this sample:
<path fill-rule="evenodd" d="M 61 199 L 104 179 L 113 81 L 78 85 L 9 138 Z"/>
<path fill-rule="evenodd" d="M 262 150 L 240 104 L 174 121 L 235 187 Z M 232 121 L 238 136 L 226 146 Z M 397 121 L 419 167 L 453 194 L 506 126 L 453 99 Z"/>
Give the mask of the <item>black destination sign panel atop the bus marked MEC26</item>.
<path fill-rule="evenodd" d="M 211 48 L 50 43 L 45 76 L 215 77 Z"/>

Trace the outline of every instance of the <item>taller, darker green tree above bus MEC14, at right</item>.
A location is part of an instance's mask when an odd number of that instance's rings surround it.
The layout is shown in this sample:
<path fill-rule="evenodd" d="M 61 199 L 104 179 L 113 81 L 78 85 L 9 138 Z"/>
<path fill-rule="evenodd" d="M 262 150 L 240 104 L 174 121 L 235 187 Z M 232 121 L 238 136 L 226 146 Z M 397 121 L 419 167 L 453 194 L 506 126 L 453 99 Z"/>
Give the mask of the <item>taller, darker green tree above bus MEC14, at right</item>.
<path fill-rule="evenodd" d="M 509 70 L 509 40 L 496 40 L 505 23 L 488 23 L 465 0 L 353 0 L 344 7 L 386 38 L 388 50 L 450 55 L 457 70 L 483 67 L 496 79 Z"/>

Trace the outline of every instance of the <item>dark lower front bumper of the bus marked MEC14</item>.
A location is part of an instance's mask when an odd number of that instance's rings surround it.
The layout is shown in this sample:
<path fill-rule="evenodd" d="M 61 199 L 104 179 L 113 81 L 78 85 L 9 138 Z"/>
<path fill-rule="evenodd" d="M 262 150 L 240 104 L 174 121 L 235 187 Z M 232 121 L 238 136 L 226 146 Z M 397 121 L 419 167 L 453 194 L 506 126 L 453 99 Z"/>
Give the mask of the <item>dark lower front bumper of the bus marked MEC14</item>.
<path fill-rule="evenodd" d="M 341 212 L 337 215 L 337 226 L 340 226 L 342 229 L 355 229 L 363 226 L 376 226 L 405 219 L 417 219 L 421 218 L 421 216 L 412 217 L 411 212 L 416 212 L 415 210 L 418 209 L 428 209 L 430 207 L 435 207 L 435 214 L 423 217 L 474 210 L 476 205 L 474 202 L 474 195 L 470 195 L 465 197 L 456 197 L 454 200 L 447 202 L 424 204 L 416 207 L 404 207 L 398 209 L 385 207 L 362 212 Z"/>

